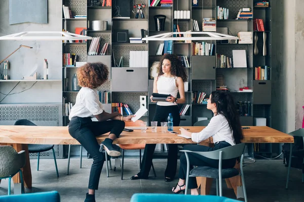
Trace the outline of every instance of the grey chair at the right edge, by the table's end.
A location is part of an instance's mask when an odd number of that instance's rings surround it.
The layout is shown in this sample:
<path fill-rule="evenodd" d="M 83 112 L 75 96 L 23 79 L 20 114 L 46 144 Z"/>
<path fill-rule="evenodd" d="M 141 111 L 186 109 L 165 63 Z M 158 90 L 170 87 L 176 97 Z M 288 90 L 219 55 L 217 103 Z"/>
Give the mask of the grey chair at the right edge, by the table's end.
<path fill-rule="evenodd" d="M 298 136 L 303 138 L 303 144 L 304 144 L 304 128 L 292 131 L 291 133 L 288 133 L 291 136 Z M 292 151 L 293 144 L 290 143 L 290 150 L 289 150 L 289 162 L 288 162 L 288 171 L 287 171 L 287 180 L 286 180 L 286 189 L 288 189 L 288 181 L 289 181 L 289 173 L 290 173 L 290 167 L 291 167 L 291 159 L 292 157 L 300 157 L 303 158 L 302 161 L 302 183 L 304 183 L 304 149 L 299 149 L 296 152 Z"/>

